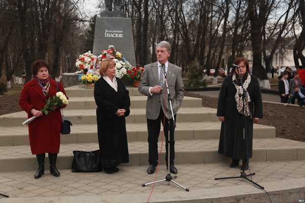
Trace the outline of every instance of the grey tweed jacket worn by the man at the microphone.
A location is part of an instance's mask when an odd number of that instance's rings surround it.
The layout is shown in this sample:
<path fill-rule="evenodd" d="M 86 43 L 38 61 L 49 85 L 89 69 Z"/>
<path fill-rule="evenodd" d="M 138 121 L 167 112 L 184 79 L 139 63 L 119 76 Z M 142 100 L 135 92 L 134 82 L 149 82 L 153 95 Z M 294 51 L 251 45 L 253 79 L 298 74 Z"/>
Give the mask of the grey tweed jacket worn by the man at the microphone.
<path fill-rule="evenodd" d="M 184 97 L 181 69 L 179 66 L 168 62 L 166 75 L 168 89 L 171 96 L 172 110 L 173 114 L 175 115 L 178 109 L 180 108 L 182 99 Z M 139 85 L 139 92 L 148 96 L 146 102 L 146 118 L 151 120 L 155 120 L 158 118 L 161 106 L 164 112 L 165 101 L 165 115 L 168 118 L 168 109 L 170 106 L 169 101 L 167 100 L 167 91 L 165 92 L 165 82 L 162 87 L 163 90 L 160 92 L 160 94 L 153 93 L 153 95 L 149 95 L 149 88 L 154 87 L 156 85 L 159 85 L 158 62 L 150 63 L 144 66 L 144 72 L 141 76 L 141 82 Z M 166 95 L 166 98 L 164 98 L 164 94 Z M 172 118 L 171 112 L 170 118 Z"/>

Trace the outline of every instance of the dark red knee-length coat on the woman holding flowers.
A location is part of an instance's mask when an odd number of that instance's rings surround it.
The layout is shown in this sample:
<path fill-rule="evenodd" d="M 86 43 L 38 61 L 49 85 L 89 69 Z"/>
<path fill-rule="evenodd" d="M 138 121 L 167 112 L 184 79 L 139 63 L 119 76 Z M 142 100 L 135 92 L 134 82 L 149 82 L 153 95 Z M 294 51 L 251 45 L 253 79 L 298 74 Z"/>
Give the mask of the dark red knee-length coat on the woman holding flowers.
<path fill-rule="evenodd" d="M 59 91 L 66 95 L 62 84 L 58 83 Z M 29 113 L 32 108 L 41 110 L 46 105 L 46 99 L 56 95 L 56 81 L 50 79 L 50 88 L 47 97 L 44 96 L 42 89 L 36 79 L 27 82 L 21 91 L 19 100 L 20 107 L 27 112 L 27 118 L 33 117 Z M 68 99 L 68 97 L 67 97 Z M 60 107 L 65 108 L 67 105 Z M 28 124 L 29 145 L 32 154 L 58 153 L 60 146 L 60 126 L 62 125 L 62 116 L 60 109 L 51 111 L 48 115 L 43 115 L 34 119 Z"/>

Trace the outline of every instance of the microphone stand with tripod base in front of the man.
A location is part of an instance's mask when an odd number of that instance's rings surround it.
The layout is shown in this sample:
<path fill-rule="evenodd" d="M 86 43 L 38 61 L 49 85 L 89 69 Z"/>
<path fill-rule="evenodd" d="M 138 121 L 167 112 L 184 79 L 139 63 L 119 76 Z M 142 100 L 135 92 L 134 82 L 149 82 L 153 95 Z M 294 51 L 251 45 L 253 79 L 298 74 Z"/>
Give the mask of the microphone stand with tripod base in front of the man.
<path fill-rule="evenodd" d="M 164 64 L 162 64 L 162 67 L 163 67 Z M 166 71 L 165 71 L 165 66 L 163 67 L 163 73 L 164 73 L 164 78 L 165 78 L 165 84 L 166 84 L 166 89 L 167 89 L 167 94 L 168 94 L 168 97 L 167 97 L 167 100 L 169 101 L 169 105 L 170 105 L 170 110 L 171 110 L 171 114 L 172 114 L 172 117 L 173 117 L 173 126 L 176 127 L 176 121 L 175 121 L 175 118 L 174 118 L 174 114 L 173 114 L 173 108 L 172 108 L 172 105 L 171 105 L 171 97 L 170 97 L 170 93 L 169 93 L 169 90 L 168 90 L 168 85 L 167 85 L 167 77 L 166 77 Z M 166 107 L 165 107 L 165 110 L 166 110 Z M 189 188 L 186 188 L 182 185 L 180 185 L 179 183 L 175 182 L 172 180 L 172 178 L 177 178 L 177 176 L 174 176 L 172 177 L 170 175 L 170 110 L 168 109 L 168 156 L 167 156 L 167 176 L 165 177 L 165 179 L 163 180 L 159 180 L 159 181 L 155 181 L 155 182 L 151 182 L 151 183 L 146 183 L 146 184 L 142 184 L 142 187 L 145 187 L 146 185 L 150 185 L 150 184 L 154 184 L 154 183 L 159 183 L 159 182 L 163 182 L 163 181 L 167 181 L 168 182 L 168 185 L 169 185 L 169 182 L 173 182 L 175 183 L 176 185 L 180 186 L 181 188 L 185 189 L 186 191 L 190 191 Z"/>

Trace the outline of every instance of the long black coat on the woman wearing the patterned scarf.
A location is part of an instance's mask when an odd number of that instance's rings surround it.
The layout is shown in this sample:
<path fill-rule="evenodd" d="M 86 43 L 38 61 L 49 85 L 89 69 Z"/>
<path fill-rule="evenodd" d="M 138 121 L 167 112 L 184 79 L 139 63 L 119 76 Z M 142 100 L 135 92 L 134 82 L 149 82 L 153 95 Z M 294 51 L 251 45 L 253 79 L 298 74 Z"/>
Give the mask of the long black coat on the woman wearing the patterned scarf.
<path fill-rule="evenodd" d="M 240 82 L 237 81 L 240 85 Z M 249 109 L 253 118 L 263 117 L 262 97 L 258 79 L 251 76 L 251 82 L 247 88 L 251 101 Z M 247 126 L 247 140 L 249 158 L 252 157 L 252 140 L 253 140 L 253 119 L 240 114 L 236 108 L 235 101 L 236 88 L 232 82 L 232 75 L 227 76 L 221 86 L 219 97 L 217 116 L 224 116 L 225 122 L 221 123 L 221 132 L 219 140 L 218 153 L 224 154 L 233 159 L 243 158 L 243 126 Z M 247 158 L 247 155 L 245 155 Z"/>

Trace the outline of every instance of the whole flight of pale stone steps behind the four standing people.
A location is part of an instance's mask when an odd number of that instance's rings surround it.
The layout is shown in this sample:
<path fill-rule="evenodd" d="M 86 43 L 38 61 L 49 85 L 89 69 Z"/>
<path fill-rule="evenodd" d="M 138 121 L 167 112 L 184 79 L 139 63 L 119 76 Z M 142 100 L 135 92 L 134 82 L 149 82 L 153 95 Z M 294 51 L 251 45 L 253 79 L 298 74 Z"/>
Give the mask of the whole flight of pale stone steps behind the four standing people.
<path fill-rule="evenodd" d="M 94 89 L 79 86 L 65 88 L 69 105 L 64 115 L 73 123 L 71 134 L 62 135 L 58 168 L 70 168 L 73 150 L 97 150 L 96 104 Z M 131 95 L 131 114 L 127 120 L 130 163 L 147 165 L 148 144 L 145 119 L 146 96 L 137 88 L 128 88 Z M 216 109 L 201 107 L 201 99 L 185 97 L 177 113 L 175 129 L 175 163 L 229 162 L 218 154 L 221 122 Z M 27 119 L 25 112 L 0 116 L 0 172 L 36 170 L 36 156 L 28 145 L 28 130 L 21 123 Z M 162 134 L 162 132 L 161 132 Z M 161 139 L 159 146 L 161 146 Z M 163 148 L 164 160 L 165 148 Z M 274 127 L 254 125 L 254 161 L 304 160 L 305 143 L 276 138 Z M 47 167 L 47 166 L 46 166 Z"/>

